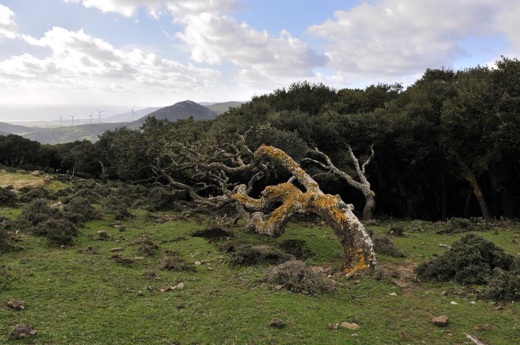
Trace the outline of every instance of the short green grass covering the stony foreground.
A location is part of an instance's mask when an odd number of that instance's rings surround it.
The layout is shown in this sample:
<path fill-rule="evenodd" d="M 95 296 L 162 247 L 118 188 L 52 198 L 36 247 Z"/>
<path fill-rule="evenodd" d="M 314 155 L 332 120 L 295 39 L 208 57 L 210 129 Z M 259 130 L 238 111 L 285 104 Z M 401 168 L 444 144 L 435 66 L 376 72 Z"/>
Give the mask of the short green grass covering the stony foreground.
<path fill-rule="evenodd" d="M 24 249 L 0 256 L 2 264 L 11 269 L 10 285 L 0 290 L 0 301 L 22 300 L 27 311 L 0 309 L 0 343 L 7 343 L 8 331 L 20 322 L 37 329 L 38 334 L 28 341 L 33 344 L 468 343 L 463 332 L 492 344 L 520 341 L 518 303 L 496 311 L 492 302 L 477 300 L 474 289 L 452 283 L 406 282 L 406 287 L 400 287 L 389 277 L 375 281 L 366 276 L 356 285 L 344 281 L 335 293 L 313 297 L 276 290 L 261 282 L 268 266 L 232 267 L 226 262 L 229 255 L 220 253 L 216 243 L 190 236 L 211 225 L 210 219 L 155 223 L 155 218 L 167 218 L 166 213 L 132 213 L 133 218 L 121 222 L 125 232 L 114 228 L 111 216 L 85 223 L 75 247 L 66 249 L 44 238 L 21 235 L 18 244 Z M 18 209 L 0 209 L 0 215 L 14 218 L 17 214 Z M 383 233 L 387 224 L 370 228 Z M 99 230 L 106 230 L 111 238 L 98 240 Z M 276 245 L 301 238 L 316 253 L 309 264 L 340 268 L 341 247 L 329 239 L 334 237 L 332 230 L 319 223 L 289 223 L 278 238 L 252 234 L 240 226 L 231 230 L 233 241 L 251 244 Z M 497 235 L 493 230 L 479 234 L 511 254 L 520 251 L 520 245 L 510 243 L 520 229 L 498 229 Z M 157 255 L 143 257 L 138 246 L 132 245 L 142 234 L 160 243 Z M 179 240 L 180 236 L 186 239 Z M 426 231 L 392 237 L 407 257 L 379 256 L 378 262 L 387 271 L 400 271 L 402 277 L 418 262 L 441 253 L 444 249 L 439 243 L 451 244 L 460 236 Z M 98 254 L 77 253 L 88 246 L 95 247 Z M 121 266 L 111 259 L 114 253 L 109 249 L 113 247 L 124 248 L 116 253 L 123 258 L 142 259 L 130 267 Z M 160 270 L 157 262 L 167 252 L 176 252 L 190 263 L 203 263 L 196 266 L 196 272 Z M 186 284 L 184 289 L 159 291 L 180 282 Z M 139 290 L 144 291 L 143 296 L 137 296 Z M 443 290 L 448 291 L 447 296 L 440 295 Z M 440 315 L 448 316 L 446 327 L 432 324 L 432 316 Z M 269 327 L 273 317 L 286 326 Z M 359 324 L 358 336 L 347 329 L 327 329 L 329 323 L 343 321 Z M 492 329 L 473 330 L 474 325 L 484 324 Z M 408 337 L 399 338 L 399 331 Z"/>

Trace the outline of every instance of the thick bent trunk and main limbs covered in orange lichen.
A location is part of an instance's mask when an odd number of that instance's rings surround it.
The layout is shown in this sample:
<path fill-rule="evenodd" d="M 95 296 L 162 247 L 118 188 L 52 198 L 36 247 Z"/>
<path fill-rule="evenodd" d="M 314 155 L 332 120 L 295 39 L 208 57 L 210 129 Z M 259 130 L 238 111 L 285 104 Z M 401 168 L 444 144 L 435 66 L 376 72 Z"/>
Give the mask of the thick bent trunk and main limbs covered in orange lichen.
<path fill-rule="evenodd" d="M 288 169 L 306 189 L 302 192 L 292 183 L 266 187 L 262 197 L 248 196 L 245 184 L 239 185 L 230 197 L 237 201 L 237 209 L 246 227 L 261 234 L 279 236 L 284 225 L 296 214 L 314 214 L 333 229 L 343 247 L 346 273 L 374 268 L 376 264 L 372 240 L 353 213 L 353 206 L 345 204 L 339 195 L 324 194 L 294 160 L 282 150 L 262 145 L 254 153 L 255 160 L 275 160 Z M 281 206 L 268 213 L 274 205 Z M 250 213 L 252 212 L 252 213 Z"/>

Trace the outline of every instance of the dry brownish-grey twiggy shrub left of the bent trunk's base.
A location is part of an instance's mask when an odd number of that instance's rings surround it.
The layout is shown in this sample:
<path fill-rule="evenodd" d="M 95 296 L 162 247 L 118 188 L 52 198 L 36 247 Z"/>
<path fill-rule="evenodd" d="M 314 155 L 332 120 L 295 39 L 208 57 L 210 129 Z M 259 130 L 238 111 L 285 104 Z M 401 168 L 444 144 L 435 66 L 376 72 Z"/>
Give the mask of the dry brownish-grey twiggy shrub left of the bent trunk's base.
<path fill-rule="evenodd" d="M 283 285 L 288 290 L 307 291 L 314 295 L 334 290 L 333 283 L 323 274 L 311 271 L 305 262 L 291 260 L 272 266 L 267 270 L 266 281 L 274 285 Z"/>

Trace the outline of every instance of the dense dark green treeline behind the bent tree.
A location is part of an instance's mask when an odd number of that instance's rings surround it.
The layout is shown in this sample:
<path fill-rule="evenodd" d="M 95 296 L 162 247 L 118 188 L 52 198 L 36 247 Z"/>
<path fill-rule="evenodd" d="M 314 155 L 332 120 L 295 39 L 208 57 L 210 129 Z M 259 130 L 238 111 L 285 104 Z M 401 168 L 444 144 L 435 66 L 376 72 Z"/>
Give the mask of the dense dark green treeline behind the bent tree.
<path fill-rule="evenodd" d="M 15 135 L 0 137 L 0 160 L 69 174 L 119 178 L 139 183 L 160 181 L 158 164 L 172 152 L 204 148 L 249 128 L 270 124 L 247 137 L 252 150 L 265 143 L 300 162 L 327 154 L 334 165 L 356 176 L 351 148 L 365 161 L 375 156 L 366 175 L 379 215 L 422 219 L 454 216 L 520 216 L 520 61 L 502 58 L 496 68 L 427 70 L 413 85 L 372 85 L 334 90 L 297 83 L 253 97 L 212 121 L 175 123 L 149 118 L 140 130 L 107 131 L 99 141 L 40 145 Z M 170 153 L 170 154 L 168 154 Z M 178 157 L 178 155 L 176 155 Z M 176 161 L 174 164 L 182 164 Z M 317 166 L 323 191 L 340 194 L 362 209 L 365 197 L 345 180 Z M 192 168 L 175 178 L 197 185 Z M 270 179 L 282 178 L 270 176 Z M 262 188 L 258 188 L 261 191 Z M 211 194 L 210 188 L 206 191 Z"/>

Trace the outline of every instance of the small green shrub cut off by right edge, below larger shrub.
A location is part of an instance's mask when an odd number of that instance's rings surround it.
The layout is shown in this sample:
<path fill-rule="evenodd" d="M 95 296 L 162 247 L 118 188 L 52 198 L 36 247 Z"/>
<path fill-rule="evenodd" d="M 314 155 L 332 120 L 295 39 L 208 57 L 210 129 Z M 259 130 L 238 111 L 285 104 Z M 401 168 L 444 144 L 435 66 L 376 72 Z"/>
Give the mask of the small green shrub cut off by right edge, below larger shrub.
<path fill-rule="evenodd" d="M 519 300 L 520 275 L 498 267 L 494 268 L 488 277 L 484 295 L 493 300 Z"/>

